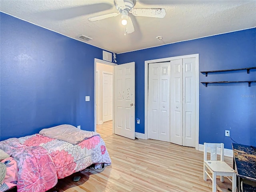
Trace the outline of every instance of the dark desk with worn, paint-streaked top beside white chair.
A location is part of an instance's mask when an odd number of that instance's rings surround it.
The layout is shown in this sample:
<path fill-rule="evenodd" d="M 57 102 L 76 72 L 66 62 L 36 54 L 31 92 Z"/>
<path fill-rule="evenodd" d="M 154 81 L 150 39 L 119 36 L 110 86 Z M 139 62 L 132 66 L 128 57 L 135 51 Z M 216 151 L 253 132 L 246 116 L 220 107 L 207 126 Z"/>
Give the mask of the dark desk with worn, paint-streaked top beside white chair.
<path fill-rule="evenodd" d="M 239 192 L 256 192 L 256 147 L 232 143 Z"/>

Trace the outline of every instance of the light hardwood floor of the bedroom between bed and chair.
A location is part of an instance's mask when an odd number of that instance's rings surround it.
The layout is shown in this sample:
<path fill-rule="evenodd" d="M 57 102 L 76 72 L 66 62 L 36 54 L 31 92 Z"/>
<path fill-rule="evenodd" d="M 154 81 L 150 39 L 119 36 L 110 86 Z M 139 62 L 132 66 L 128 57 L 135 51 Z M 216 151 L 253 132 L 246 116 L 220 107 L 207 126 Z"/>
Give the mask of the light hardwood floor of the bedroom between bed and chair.
<path fill-rule="evenodd" d="M 111 129 L 112 134 L 112 129 Z M 102 137 L 108 135 L 102 134 Z M 78 172 L 58 181 L 59 192 L 211 192 L 203 180 L 203 152 L 156 140 L 105 137 L 112 165 L 98 174 Z M 225 157 L 232 166 L 232 158 Z M 73 182 L 74 176 L 81 176 Z M 231 182 L 217 179 L 217 192 L 228 192 Z"/>

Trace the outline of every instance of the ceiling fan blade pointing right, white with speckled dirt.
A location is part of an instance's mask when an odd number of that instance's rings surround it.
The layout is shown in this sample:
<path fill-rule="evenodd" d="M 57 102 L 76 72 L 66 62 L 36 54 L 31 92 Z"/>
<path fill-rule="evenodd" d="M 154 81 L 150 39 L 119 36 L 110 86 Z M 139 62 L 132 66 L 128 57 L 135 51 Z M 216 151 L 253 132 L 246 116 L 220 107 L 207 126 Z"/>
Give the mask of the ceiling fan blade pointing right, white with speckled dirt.
<path fill-rule="evenodd" d="M 164 18 L 166 11 L 164 8 L 135 8 L 132 10 L 134 16 Z"/>

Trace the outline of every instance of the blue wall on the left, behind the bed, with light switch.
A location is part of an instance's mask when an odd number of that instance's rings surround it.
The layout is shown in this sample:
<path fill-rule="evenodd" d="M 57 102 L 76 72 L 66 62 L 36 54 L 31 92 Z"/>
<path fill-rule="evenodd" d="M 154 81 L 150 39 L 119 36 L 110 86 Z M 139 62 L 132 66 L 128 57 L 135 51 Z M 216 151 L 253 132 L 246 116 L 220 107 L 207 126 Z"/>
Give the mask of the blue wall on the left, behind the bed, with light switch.
<path fill-rule="evenodd" d="M 0 139 L 59 124 L 94 130 L 94 58 L 102 49 L 4 13 L 0 19 Z"/>

